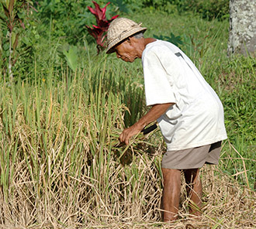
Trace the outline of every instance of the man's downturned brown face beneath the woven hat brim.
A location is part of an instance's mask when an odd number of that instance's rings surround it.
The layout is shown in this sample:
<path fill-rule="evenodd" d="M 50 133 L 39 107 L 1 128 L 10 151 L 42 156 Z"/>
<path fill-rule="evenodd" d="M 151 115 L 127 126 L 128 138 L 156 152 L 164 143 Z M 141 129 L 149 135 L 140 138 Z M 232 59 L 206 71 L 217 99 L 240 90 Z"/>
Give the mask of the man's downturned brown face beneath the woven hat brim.
<path fill-rule="evenodd" d="M 133 62 L 138 56 L 135 47 L 130 39 L 116 46 L 116 56 L 126 62 Z"/>

